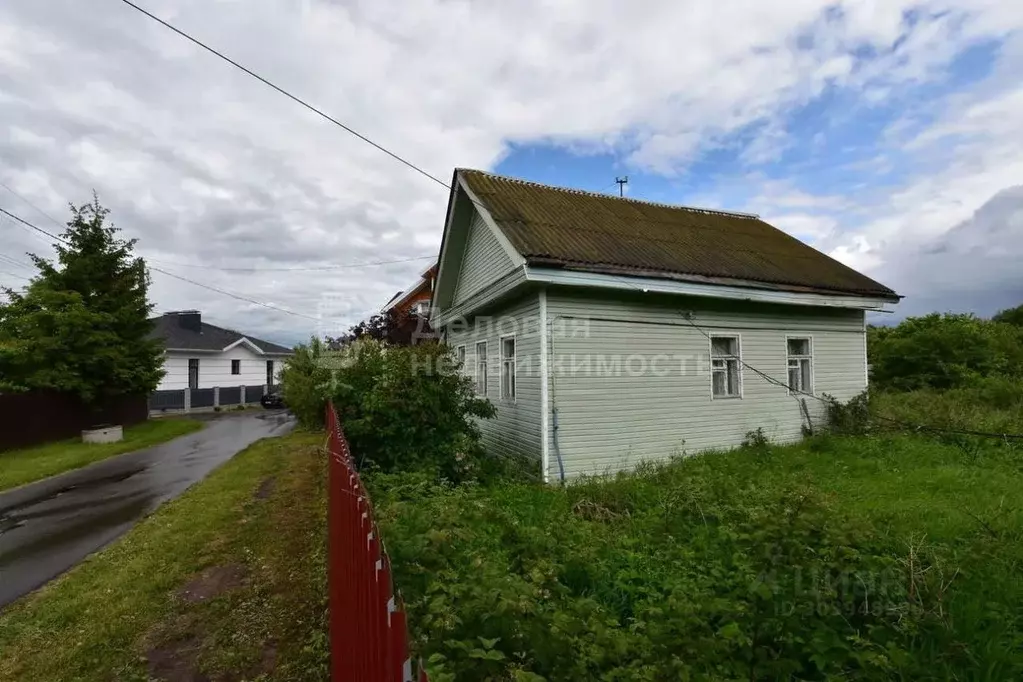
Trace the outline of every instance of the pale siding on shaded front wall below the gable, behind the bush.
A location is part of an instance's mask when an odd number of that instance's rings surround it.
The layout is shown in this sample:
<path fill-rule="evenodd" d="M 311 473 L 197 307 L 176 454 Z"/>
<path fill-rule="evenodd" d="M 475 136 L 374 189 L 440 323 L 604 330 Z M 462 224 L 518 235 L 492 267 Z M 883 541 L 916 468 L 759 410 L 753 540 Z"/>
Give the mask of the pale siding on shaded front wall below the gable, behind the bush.
<path fill-rule="evenodd" d="M 468 326 L 468 328 L 465 328 Z M 497 408 L 494 419 L 480 421 L 487 450 L 501 456 L 540 458 L 540 332 L 539 298 L 536 292 L 501 308 L 499 313 L 478 316 L 468 325 L 448 327 L 452 350 L 465 347 L 462 371 L 475 377 L 476 344 L 487 342 L 487 398 Z M 516 400 L 502 400 L 500 393 L 500 338 L 514 334 L 517 358 Z"/>

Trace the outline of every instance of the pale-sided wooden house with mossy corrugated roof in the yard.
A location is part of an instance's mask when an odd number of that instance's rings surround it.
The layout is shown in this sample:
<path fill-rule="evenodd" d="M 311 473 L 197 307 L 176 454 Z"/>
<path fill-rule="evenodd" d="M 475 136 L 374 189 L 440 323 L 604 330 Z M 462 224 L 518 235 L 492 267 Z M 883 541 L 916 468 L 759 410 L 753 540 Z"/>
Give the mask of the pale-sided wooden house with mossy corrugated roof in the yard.
<path fill-rule="evenodd" d="M 431 322 L 545 479 L 772 442 L 866 387 L 890 288 L 757 216 L 456 170 Z"/>

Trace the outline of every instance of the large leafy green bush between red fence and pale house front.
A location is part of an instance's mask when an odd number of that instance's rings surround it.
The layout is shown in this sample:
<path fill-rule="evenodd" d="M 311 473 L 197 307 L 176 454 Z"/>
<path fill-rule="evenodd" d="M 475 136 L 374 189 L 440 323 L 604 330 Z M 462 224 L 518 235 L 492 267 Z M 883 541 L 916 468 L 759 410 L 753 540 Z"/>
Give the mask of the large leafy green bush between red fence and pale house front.
<path fill-rule="evenodd" d="M 452 371 L 453 362 L 439 344 L 361 338 L 328 351 L 313 342 L 285 365 L 284 401 L 301 422 L 317 425 L 331 400 L 360 468 L 477 479 L 488 461 L 476 419 L 492 417 L 494 408 Z"/>

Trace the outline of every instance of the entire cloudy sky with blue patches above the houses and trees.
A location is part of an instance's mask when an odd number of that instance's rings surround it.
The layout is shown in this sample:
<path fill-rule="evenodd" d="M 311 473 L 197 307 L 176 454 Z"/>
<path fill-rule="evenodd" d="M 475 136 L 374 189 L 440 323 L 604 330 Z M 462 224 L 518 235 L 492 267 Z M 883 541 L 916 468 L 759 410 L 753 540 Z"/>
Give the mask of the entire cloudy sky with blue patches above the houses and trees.
<path fill-rule="evenodd" d="M 627 174 L 760 214 L 900 316 L 1023 302 L 1023 3 L 137 1 L 445 181 Z M 95 189 L 151 265 L 298 315 L 153 272 L 161 311 L 299 340 L 440 243 L 444 187 L 121 0 L 0 4 L 0 208 L 56 231 Z M 47 239 L 0 234 L 21 285 Z"/>

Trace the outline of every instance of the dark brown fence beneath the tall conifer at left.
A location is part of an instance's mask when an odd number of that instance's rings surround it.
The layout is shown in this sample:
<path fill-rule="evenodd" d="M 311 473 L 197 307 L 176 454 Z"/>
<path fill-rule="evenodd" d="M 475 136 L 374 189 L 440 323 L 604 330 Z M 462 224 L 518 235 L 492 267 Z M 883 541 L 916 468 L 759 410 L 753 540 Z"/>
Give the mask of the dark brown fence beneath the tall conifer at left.
<path fill-rule="evenodd" d="M 148 418 L 145 396 L 91 406 L 76 396 L 50 391 L 0 394 L 0 452 L 77 438 L 93 426 L 131 426 Z"/>

